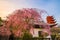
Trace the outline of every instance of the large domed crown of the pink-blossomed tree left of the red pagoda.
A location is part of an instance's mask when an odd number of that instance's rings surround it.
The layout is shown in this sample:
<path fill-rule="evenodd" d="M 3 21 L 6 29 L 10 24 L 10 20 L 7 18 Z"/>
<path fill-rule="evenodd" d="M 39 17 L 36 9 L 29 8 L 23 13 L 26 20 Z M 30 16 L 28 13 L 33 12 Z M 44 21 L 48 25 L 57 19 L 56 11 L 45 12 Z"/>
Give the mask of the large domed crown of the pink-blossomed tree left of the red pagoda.
<path fill-rule="evenodd" d="M 46 11 L 36 8 L 23 8 L 15 10 L 7 17 L 4 24 L 5 28 L 10 29 L 14 36 L 21 37 L 25 30 L 33 31 L 33 24 L 42 20 L 41 14 L 44 12 Z"/>

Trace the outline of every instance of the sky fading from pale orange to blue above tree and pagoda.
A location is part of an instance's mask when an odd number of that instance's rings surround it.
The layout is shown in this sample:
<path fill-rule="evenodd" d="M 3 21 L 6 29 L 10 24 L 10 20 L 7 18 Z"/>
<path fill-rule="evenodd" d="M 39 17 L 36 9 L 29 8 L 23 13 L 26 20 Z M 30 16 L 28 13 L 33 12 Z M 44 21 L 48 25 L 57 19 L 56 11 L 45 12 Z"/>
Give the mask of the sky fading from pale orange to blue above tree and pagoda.
<path fill-rule="evenodd" d="M 16 9 L 38 8 L 53 15 L 60 24 L 60 0 L 0 0 L 0 17 L 5 18 Z M 47 14 L 44 14 L 43 19 Z M 44 19 L 45 20 L 45 19 Z"/>

